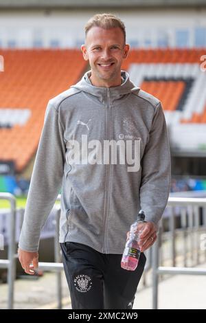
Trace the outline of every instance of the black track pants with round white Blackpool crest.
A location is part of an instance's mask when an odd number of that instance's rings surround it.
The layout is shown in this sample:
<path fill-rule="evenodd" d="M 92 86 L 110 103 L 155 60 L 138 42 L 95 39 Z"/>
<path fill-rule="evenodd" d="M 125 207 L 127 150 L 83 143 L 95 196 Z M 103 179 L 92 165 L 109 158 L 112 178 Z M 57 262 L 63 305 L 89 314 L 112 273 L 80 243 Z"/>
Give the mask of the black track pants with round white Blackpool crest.
<path fill-rule="evenodd" d="M 146 256 L 135 271 L 121 268 L 121 254 L 102 254 L 82 243 L 60 244 L 72 309 L 132 309 Z"/>

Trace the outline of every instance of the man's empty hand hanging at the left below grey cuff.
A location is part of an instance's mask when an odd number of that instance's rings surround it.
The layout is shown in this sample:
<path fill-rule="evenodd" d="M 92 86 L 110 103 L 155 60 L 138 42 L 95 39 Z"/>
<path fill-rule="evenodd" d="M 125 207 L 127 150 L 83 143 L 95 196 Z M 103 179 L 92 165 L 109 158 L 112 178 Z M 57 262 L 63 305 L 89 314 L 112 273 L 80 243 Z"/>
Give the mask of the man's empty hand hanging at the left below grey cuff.
<path fill-rule="evenodd" d="M 34 275 L 34 269 L 38 268 L 38 252 L 25 252 L 25 250 L 18 250 L 19 261 L 25 273 Z"/>

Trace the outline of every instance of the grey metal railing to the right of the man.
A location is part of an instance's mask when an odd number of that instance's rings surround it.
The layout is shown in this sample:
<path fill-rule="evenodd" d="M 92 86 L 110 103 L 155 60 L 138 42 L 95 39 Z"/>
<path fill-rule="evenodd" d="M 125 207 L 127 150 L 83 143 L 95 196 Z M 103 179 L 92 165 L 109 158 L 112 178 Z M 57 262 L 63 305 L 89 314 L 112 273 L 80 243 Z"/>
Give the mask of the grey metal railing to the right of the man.
<path fill-rule="evenodd" d="M 198 268 L 187 268 L 187 267 L 175 267 L 175 225 L 174 225 L 174 206 L 181 206 L 189 208 L 189 226 L 193 225 L 193 214 L 192 207 L 206 207 L 206 198 L 187 198 L 187 197 L 170 197 L 168 200 L 168 207 L 171 207 L 170 212 L 170 223 L 172 233 L 172 267 L 160 267 L 159 266 L 159 245 L 161 235 L 158 235 L 157 241 L 152 247 L 152 309 L 158 308 L 158 286 L 159 286 L 159 275 L 164 274 L 183 274 L 183 275 L 206 275 L 205 269 Z M 184 214 L 186 216 L 186 214 Z M 198 218 L 196 216 L 196 218 Z M 194 217 L 195 219 L 195 217 Z M 205 224 L 205 214 L 203 217 L 203 224 Z M 198 227 L 198 219 L 195 219 L 195 225 Z M 190 240 L 191 242 L 191 240 Z M 193 242 L 190 245 L 193 248 Z"/>

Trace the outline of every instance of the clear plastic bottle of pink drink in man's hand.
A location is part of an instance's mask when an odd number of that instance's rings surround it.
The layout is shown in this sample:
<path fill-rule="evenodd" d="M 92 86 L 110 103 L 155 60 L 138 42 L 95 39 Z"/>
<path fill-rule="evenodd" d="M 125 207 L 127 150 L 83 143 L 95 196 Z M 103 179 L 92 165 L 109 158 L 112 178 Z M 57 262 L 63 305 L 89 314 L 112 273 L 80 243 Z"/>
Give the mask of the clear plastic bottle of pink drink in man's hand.
<path fill-rule="evenodd" d="M 141 254 L 139 248 L 139 234 L 142 230 L 137 230 L 138 224 L 144 222 L 145 214 L 143 210 L 140 210 L 137 215 L 137 221 L 135 221 L 130 226 L 130 236 L 124 248 L 124 253 L 122 255 L 121 267 L 126 270 L 135 270 L 138 265 L 139 256 Z"/>

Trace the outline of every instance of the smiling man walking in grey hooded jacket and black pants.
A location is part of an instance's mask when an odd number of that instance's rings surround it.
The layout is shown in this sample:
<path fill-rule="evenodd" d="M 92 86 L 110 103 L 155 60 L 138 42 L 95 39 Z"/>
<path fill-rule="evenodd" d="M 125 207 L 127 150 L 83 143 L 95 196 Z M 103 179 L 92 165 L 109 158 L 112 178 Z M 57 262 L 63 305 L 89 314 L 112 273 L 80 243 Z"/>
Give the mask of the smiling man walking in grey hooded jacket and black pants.
<path fill-rule="evenodd" d="M 72 308 L 131 309 L 170 192 L 168 133 L 161 102 L 121 69 L 129 51 L 124 23 L 96 14 L 85 36 L 91 70 L 47 106 L 19 260 L 34 274 L 41 228 L 62 188 L 60 245 Z M 142 253 L 127 271 L 120 265 L 126 232 L 140 208 Z"/>

